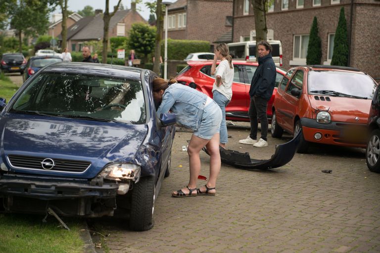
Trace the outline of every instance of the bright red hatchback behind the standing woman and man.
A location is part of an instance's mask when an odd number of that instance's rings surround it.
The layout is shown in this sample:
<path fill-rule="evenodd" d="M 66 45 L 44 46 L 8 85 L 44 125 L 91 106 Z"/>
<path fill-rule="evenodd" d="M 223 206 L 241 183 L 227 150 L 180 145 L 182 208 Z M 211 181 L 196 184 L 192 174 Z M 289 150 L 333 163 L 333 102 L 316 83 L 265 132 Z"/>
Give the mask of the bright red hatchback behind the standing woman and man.
<path fill-rule="evenodd" d="M 212 98 L 212 85 L 215 82 L 215 76 L 211 75 L 212 61 L 188 61 L 188 66 L 178 73 L 176 80 L 178 83 L 193 86 L 197 90 L 205 93 Z M 219 61 L 218 61 L 219 63 Z M 255 73 L 257 62 L 237 61 L 234 64 L 234 82 L 232 84 L 232 100 L 226 107 L 226 119 L 229 121 L 249 122 L 249 88 L 253 74 Z M 272 104 L 277 92 L 277 86 L 285 75 L 285 71 L 276 68 L 276 87 L 273 90 L 271 99 L 268 101 L 268 118 L 272 118 Z"/>

